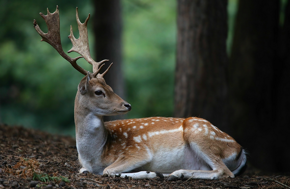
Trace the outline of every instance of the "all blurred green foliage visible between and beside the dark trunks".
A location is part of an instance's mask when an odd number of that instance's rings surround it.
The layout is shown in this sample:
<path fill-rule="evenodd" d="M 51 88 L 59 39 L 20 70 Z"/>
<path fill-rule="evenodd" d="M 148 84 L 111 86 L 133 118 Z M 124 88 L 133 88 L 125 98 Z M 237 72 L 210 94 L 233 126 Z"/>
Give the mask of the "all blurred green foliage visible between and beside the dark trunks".
<path fill-rule="evenodd" d="M 73 26 L 78 37 L 75 8 L 81 22 L 94 14 L 93 2 L 1 0 L 0 6 L 0 123 L 23 125 L 63 135 L 75 135 L 74 98 L 82 74 L 77 72 L 33 28 L 33 19 L 47 32 L 39 12 L 60 12 L 64 51 L 72 47 Z M 123 0 L 123 70 L 126 101 L 132 111 L 127 118 L 173 116 L 176 51 L 175 0 Z M 227 52 L 233 38 L 238 0 L 228 3 Z M 92 18 L 92 17 L 91 17 Z M 88 23 L 90 51 L 94 58 L 92 22 Z M 70 53 L 77 57 L 77 53 Z M 92 70 L 84 59 L 78 64 Z"/>

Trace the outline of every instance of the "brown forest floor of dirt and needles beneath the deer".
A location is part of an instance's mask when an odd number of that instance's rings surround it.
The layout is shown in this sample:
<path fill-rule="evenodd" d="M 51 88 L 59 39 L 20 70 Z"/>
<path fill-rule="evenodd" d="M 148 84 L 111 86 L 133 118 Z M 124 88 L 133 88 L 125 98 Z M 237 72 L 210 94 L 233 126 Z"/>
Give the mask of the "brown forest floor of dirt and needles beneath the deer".
<path fill-rule="evenodd" d="M 0 125 L 2 188 L 290 188 L 290 176 L 251 175 L 220 180 L 133 180 L 79 174 L 75 139 Z"/>

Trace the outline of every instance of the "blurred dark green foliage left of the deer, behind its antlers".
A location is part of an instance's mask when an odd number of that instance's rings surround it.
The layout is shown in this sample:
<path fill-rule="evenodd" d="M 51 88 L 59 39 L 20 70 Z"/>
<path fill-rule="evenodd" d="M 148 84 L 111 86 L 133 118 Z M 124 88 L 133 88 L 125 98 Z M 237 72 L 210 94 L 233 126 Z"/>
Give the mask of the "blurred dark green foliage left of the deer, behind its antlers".
<path fill-rule="evenodd" d="M 46 7 L 60 9 L 61 41 L 64 51 L 71 48 L 70 25 L 78 36 L 75 7 L 81 21 L 92 12 L 90 2 L 82 1 L 1 1 L 0 26 L 0 122 L 74 135 L 73 103 L 83 75 L 64 60 L 33 28 L 33 19 L 47 32 Z M 91 23 L 90 23 L 91 24 Z M 91 28 L 91 26 L 90 26 Z M 90 30 L 89 28 L 89 30 Z M 92 38 L 91 38 L 92 39 Z M 92 45 L 93 46 L 93 45 Z M 76 57 L 77 53 L 70 53 Z M 84 60 L 78 63 L 92 68 Z M 64 132 L 63 130 L 67 130 Z"/>

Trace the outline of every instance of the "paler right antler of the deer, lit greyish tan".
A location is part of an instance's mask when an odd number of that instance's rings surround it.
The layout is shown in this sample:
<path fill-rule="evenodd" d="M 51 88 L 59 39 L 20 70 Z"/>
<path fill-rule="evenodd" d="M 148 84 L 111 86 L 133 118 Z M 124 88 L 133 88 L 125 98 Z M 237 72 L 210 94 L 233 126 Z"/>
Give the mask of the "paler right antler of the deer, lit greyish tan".
<path fill-rule="evenodd" d="M 87 28 L 87 23 L 88 23 L 88 20 L 90 19 L 90 14 L 88 15 L 86 21 L 84 23 L 81 23 L 79 20 L 79 12 L 76 8 L 76 17 L 77 17 L 77 25 L 79 29 L 79 39 L 75 38 L 75 36 L 73 35 L 73 28 L 72 26 L 70 26 L 70 35 L 68 36 L 68 38 L 73 43 L 73 47 L 68 51 L 68 53 L 77 52 L 81 56 L 83 56 L 88 63 L 93 65 L 93 72 L 94 72 L 93 75 L 97 75 L 100 71 L 99 66 L 104 61 L 108 61 L 108 60 L 96 62 L 92 59 L 90 55 L 90 47 L 89 47 L 89 41 L 88 41 L 88 28 Z"/>

